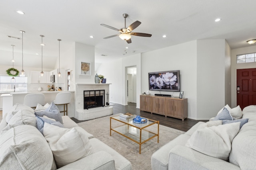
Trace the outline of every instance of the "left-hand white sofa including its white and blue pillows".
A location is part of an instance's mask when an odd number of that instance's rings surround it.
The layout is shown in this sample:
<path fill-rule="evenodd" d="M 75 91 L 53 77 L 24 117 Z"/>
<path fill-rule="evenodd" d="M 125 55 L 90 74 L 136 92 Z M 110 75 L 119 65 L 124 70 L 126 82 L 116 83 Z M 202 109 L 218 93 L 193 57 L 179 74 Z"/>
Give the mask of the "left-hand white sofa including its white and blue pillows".
<path fill-rule="evenodd" d="M 35 113 L 15 104 L 5 114 L 0 123 L 0 169 L 132 169 L 130 161 L 114 149 L 68 116 L 58 115 L 54 104 L 46 107 L 38 106 Z"/>

